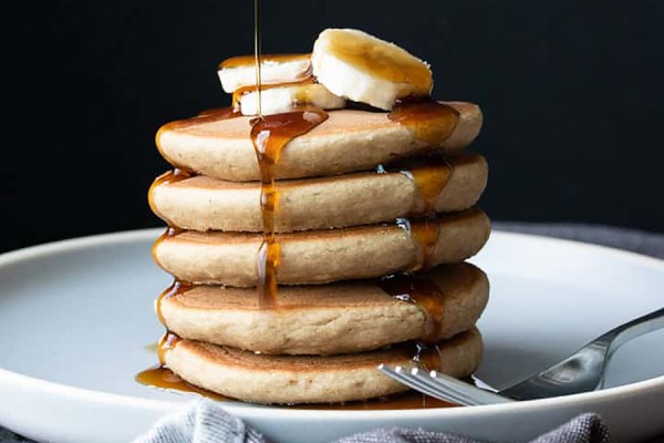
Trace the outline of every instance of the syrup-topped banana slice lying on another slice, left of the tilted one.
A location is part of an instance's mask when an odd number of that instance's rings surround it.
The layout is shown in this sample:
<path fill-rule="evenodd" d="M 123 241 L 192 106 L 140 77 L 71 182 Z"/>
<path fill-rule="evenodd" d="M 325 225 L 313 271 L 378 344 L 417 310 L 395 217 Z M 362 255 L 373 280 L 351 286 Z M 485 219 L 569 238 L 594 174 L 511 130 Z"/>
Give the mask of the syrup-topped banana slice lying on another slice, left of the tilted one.
<path fill-rule="evenodd" d="M 260 76 L 262 84 L 293 82 L 310 75 L 310 54 L 262 55 Z M 217 69 L 225 92 L 256 86 L 256 60 L 253 55 L 234 56 L 221 62 Z"/>

